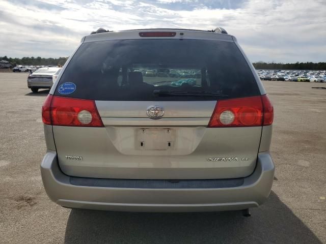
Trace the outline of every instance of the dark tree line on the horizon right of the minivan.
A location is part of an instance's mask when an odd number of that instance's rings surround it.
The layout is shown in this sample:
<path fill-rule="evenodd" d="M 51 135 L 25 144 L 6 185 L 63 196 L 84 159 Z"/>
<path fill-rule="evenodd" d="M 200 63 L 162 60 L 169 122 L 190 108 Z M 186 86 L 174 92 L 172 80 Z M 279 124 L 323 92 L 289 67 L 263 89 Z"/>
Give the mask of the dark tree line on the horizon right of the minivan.
<path fill-rule="evenodd" d="M 293 64 L 283 64 L 283 63 L 264 63 L 264 62 L 257 62 L 253 63 L 255 69 L 257 70 L 326 70 L 326 63 L 319 62 L 319 63 L 293 63 Z"/>

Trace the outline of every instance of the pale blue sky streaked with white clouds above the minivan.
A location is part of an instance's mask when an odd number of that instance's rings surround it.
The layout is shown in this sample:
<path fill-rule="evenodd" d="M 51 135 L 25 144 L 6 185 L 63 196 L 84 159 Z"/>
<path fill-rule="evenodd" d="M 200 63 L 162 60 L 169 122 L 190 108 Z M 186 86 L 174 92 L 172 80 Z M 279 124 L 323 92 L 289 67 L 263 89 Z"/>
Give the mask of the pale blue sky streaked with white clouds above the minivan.
<path fill-rule="evenodd" d="M 326 0 L 0 0 L 0 56 L 66 57 L 99 27 L 224 27 L 251 62 L 326 62 Z"/>

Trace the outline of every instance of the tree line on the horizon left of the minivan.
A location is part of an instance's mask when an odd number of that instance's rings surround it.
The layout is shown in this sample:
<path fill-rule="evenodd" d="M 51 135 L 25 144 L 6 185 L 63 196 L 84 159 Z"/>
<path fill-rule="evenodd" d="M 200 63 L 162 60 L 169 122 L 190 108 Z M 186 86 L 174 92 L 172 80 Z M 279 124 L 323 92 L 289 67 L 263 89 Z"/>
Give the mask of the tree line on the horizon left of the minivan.
<path fill-rule="evenodd" d="M 68 57 L 59 57 L 59 58 L 44 58 L 44 57 L 22 57 L 22 58 L 12 58 L 12 57 L 7 57 L 3 56 L 0 57 L 0 60 L 6 60 L 10 62 L 13 66 L 15 65 L 34 65 L 34 66 L 39 66 L 39 65 L 60 65 L 63 66 Z"/>

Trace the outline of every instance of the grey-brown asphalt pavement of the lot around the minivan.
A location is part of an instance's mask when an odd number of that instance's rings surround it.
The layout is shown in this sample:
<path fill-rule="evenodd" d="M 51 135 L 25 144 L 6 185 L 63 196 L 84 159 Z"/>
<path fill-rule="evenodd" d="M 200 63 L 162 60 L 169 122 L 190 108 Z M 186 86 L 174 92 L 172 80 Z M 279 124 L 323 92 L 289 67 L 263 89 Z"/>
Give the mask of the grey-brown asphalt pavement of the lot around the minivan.
<path fill-rule="evenodd" d="M 0 243 L 326 243 L 326 83 L 263 81 L 274 103 L 268 201 L 236 212 L 71 210 L 42 185 L 41 106 L 26 73 L 0 73 Z"/>

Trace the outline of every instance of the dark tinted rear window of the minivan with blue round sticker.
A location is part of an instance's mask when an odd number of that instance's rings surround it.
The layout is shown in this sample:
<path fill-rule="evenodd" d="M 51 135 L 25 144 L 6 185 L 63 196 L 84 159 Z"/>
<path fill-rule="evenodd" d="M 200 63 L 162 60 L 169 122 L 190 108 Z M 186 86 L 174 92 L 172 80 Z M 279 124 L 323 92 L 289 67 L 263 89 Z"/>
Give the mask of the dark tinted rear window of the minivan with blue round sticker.
<path fill-rule="evenodd" d="M 69 94 L 62 92 L 67 85 L 73 86 Z M 233 42 L 137 39 L 83 43 L 55 95 L 112 101 L 196 101 L 260 93 Z"/>

